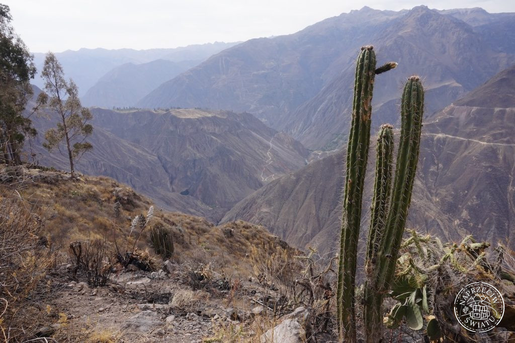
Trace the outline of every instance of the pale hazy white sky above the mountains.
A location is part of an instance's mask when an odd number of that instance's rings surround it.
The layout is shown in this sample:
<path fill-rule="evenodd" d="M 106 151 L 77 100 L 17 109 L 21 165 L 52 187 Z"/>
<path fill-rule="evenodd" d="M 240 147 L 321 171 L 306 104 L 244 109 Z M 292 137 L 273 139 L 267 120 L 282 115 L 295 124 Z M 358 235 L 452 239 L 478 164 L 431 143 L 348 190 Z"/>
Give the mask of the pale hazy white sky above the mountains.
<path fill-rule="evenodd" d="M 170 48 L 293 33 L 360 9 L 483 7 L 515 12 L 513 0 L 0 0 L 31 52 L 81 47 Z"/>

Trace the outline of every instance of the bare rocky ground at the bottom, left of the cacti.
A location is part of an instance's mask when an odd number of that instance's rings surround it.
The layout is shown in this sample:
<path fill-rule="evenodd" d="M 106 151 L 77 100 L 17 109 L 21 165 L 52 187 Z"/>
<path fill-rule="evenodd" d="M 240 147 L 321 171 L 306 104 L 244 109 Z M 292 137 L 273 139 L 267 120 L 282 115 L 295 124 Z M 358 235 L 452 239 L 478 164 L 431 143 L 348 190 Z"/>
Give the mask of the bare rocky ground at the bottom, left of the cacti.
<path fill-rule="evenodd" d="M 277 307 L 281 300 L 273 285 L 263 287 L 251 278 L 236 282 L 236 287 L 232 281 L 232 289 L 205 286 L 194 290 L 179 269 L 171 263 L 158 272 L 132 268 L 97 288 L 73 280 L 71 273 L 65 272 L 54 285 L 57 297 L 48 308 L 49 314 L 58 309 L 53 314 L 56 323 L 42 328 L 40 335 L 91 342 L 305 340 L 309 313 L 304 307 L 270 319 L 272 306 Z M 223 285 L 220 280 L 210 284 Z M 272 334 L 268 329 L 274 326 Z"/>

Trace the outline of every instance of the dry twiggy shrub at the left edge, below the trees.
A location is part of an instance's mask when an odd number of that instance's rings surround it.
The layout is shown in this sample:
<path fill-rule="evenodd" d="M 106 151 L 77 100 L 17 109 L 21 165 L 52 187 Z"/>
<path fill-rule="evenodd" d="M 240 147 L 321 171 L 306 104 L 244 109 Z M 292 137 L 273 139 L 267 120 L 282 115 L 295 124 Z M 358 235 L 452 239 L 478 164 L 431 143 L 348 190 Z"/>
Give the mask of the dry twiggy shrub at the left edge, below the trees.
<path fill-rule="evenodd" d="M 0 196 L 0 337 L 22 341 L 39 325 L 44 277 L 50 265 L 42 222 L 27 202 Z"/>

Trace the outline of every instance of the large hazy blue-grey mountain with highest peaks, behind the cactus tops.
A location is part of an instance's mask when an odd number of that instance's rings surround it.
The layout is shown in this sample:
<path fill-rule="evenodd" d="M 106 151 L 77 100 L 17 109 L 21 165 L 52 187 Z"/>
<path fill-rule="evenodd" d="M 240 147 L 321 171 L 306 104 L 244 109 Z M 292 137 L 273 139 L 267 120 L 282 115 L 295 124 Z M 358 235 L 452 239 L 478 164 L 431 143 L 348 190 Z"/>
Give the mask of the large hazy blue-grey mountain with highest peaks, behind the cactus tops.
<path fill-rule="evenodd" d="M 374 125 L 379 126 L 397 118 L 400 84 L 411 74 L 424 78 L 427 113 L 432 113 L 515 63 L 515 39 L 499 38 L 513 37 L 514 22 L 513 13 L 482 9 L 364 7 L 293 35 L 225 49 L 163 83 L 136 106 L 248 111 L 308 148 L 331 150 L 347 136 L 359 47 L 373 44 L 378 64 L 399 62 L 397 70 L 376 79 Z"/>

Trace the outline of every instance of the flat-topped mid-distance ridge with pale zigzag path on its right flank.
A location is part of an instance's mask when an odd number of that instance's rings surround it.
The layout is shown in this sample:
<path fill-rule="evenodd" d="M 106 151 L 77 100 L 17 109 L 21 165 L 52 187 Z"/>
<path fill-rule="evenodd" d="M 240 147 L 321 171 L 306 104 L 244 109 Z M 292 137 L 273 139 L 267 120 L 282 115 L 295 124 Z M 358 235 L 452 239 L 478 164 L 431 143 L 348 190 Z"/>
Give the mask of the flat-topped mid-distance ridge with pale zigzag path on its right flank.
<path fill-rule="evenodd" d="M 95 108 L 94 148 L 77 170 L 127 183 L 167 209 L 217 221 L 234 203 L 305 164 L 304 147 L 248 113 L 204 110 L 116 112 Z M 37 118 L 44 132 L 53 121 Z M 40 134 L 39 163 L 67 169 Z"/>

